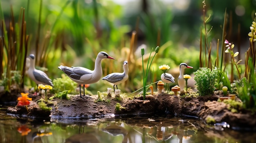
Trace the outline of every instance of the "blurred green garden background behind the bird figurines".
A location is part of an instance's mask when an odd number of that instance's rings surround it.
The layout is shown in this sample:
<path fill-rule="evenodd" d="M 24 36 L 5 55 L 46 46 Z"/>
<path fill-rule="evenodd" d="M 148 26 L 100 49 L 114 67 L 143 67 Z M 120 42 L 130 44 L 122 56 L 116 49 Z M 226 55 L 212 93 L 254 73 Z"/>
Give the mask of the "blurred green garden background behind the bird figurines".
<path fill-rule="evenodd" d="M 222 39 L 222 26 L 227 11 L 226 39 L 240 51 L 239 59 L 249 47 L 249 26 L 254 19 L 255 0 L 1 0 L 0 20 L 6 31 L 10 22 L 17 23 L 20 33 L 22 11 L 29 35 L 27 54 L 37 56 L 36 66 L 45 67 L 51 79 L 60 78 L 63 72 L 57 67 L 83 66 L 93 69 L 99 51 L 105 51 L 116 60 L 103 60 L 103 76 L 123 72 L 122 63 L 129 62 L 129 79 L 119 88 L 134 91 L 142 84 L 142 60 L 140 48 L 149 53 L 160 46 L 148 81 L 160 80 L 158 66 L 168 64 L 177 82 L 179 64 L 193 66 L 184 74 L 192 74 L 199 68 L 200 33 L 204 29 L 204 13 L 208 41 L 212 45 L 212 57 L 217 40 Z M 204 9 L 203 9 L 204 7 Z M 1 22 L 1 27 L 3 27 Z M 136 31 L 135 40 L 131 40 Z M 1 34 L 3 31 L 1 30 Z M 134 34 L 134 33 L 133 33 Z M 17 36 L 16 35 L 16 36 Z M 18 37 L 18 36 L 17 36 Z M 221 46 L 221 45 L 219 45 Z M 236 50 L 234 50 L 236 51 Z M 3 52 L 3 71 L 7 61 Z M 216 56 L 215 56 L 216 57 Z M 144 64 L 147 62 L 147 58 Z M 25 85 L 32 85 L 27 76 Z M 177 83 L 173 84 L 176 85 Z M 100 80 L 90 85 L 94 94 L 106 91 L 112 85 Z"/>

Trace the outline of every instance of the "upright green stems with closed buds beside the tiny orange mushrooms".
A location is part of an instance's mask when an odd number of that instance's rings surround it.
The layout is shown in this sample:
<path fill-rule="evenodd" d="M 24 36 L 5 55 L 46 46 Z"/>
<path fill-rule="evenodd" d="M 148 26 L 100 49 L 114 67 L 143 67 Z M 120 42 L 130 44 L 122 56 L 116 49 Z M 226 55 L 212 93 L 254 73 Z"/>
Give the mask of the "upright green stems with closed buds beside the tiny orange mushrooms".
<path fill-rule="evenodd" d="M 144 52 L 144 48 L 141 48 L 142 69 L 143 69 L 143 71 L 142 71 L 142 73 L 143 73 L 143 99 L 144 99 L 144 100 L 145 100 L 145 98 L 146 98 L 146 90 L 147 90 L 147 89 L 146 89 L 146 87 L 147 87 L 147 86 L 146 86 L 146 82 L 147 82 L 147 79 L 148 79 L 148 72 L 149 72 L 149 70 L 150 70 L 150 66 L 151 66 L 151 64 L 152 64 L 152 61 L 153 61 L 155 55 L 158 53 L 158 51 L 159 51 L 159 46 L 157 46 L 157 47 L 155 48 L 155 54 L 154 54 L 154 56 L 152 57 L 152 59 L 151 59 L 151 61 L 150 61 L 151 53 L 153 52 L 153 48 L 151 49 L 150 55 L 149 55 L 149 58 L 148 58 L 146 73 L 145 73 L 145 71 L 144 71 L 144 60 L 143 60 L 143 55 L 145 54 L 145 52 Z"/>

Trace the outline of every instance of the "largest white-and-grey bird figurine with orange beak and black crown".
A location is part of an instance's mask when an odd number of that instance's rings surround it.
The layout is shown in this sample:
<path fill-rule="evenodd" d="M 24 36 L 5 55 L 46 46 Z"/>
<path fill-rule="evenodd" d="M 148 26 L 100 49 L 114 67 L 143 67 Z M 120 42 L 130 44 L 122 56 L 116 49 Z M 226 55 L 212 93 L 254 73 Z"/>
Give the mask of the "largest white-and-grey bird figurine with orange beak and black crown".
<path fill-rule="evenodd" d="M 93 84 L 101 79 L 102 68 L 101 60 L 102 59 L 115 59 L 110 57 L 106 52 L 99 52 L 95 60 L 94 70 L 89 70 L 88 68 L 83 67 L 68 67 L 68 66 L 58 66 L 72 81 L 75 81 L 79 84 L 80 97 L 81 95 L 81 84 L 83 84 L 83 95 L 85 95 L 85 84 Z M 86 96 L 85 96 L 86 97 Z M 83 97 L 82 97 L 83 98 Z M 85 98 L 83 98 L 85 99 Z"/>

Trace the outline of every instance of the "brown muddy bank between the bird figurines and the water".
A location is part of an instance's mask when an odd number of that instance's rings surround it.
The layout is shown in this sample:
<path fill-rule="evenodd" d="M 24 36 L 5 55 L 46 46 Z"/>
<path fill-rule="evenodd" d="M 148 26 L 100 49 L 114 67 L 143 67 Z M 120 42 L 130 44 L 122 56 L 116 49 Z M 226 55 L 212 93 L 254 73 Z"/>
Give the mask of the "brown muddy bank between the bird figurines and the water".
<path fill-rule="evenodd" d="M 60 118 L 100 118 L 104 116 L 132 116 L 135 114 L 157 115 L 161 117 L 198 117 L 206 123 L 207 117 L 212 117 L 216 123 L 227 122 L 234 129 L 256 130 L 256 114 L 249 110 L 241 110 L 233 113 L 228 110 L 227 104 L 218 102 L 219 97 L 215 95 L 205 97 L 173 97 L 165 93 L 159 95 L 147 95 L 143 97 L 121 98 L 105 97 L 98 101 L 98 95 L 93 95 L 88 100 L 79 95 L 72 95 L 67 99 L 53 99 L 50 104 L 50 112 L 40 110 L 36 102 L 31 101 L 28 106 L 29 113 L 25 107 L 9 107 L 7 113 L 27 114 L 30 117 L 60 117 Z M 238 99 L 238 98 L 237 98 Z M 116 103 L 124 108 L 117 111 Z"/>

